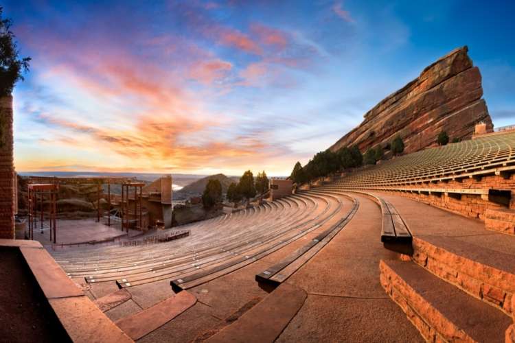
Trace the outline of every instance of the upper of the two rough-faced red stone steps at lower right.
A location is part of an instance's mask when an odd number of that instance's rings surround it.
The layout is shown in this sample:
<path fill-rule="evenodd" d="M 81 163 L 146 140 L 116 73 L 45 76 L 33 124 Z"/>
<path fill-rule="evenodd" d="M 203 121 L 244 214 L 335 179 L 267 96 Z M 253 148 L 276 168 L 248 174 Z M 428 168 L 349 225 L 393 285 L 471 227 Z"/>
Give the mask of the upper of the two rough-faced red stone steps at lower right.
<path fill-rule="evenodd" d="M 459 237 L 413 237 L 412 259 L 472 296 L 512 314 L 515 255 L 487 248 L 484 237 L 467 238 L 474 243 Z"/>

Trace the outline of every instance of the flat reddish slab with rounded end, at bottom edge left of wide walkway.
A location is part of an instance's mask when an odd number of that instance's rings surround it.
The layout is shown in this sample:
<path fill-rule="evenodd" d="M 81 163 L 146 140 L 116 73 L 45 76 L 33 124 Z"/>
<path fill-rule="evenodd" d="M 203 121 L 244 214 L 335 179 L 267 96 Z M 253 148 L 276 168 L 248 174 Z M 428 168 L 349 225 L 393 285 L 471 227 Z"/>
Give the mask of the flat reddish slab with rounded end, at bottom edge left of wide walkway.
<path fill-rule="evenodd" d="M 306 300 L 304 289 L 283 283 L 207 342 L 274 342 Z"/>

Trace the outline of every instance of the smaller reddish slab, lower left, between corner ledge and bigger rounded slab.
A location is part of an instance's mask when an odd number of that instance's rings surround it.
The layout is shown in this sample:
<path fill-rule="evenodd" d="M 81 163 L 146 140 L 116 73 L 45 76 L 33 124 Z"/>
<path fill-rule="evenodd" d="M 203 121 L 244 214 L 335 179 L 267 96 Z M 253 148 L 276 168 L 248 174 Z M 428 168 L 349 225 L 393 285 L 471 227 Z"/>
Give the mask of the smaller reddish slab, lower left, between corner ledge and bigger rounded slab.
<path fill-rule="evenodd" d="M 118 320 L 116 324 L 130 338 L 139 340 L 144 335 L 170 322 L 170 320 L 182 314 L 195 305 L 195 303 L 196 298 L 190 292 L 179 292 L 175 296 L 171 296 L 144 311 Z"/>

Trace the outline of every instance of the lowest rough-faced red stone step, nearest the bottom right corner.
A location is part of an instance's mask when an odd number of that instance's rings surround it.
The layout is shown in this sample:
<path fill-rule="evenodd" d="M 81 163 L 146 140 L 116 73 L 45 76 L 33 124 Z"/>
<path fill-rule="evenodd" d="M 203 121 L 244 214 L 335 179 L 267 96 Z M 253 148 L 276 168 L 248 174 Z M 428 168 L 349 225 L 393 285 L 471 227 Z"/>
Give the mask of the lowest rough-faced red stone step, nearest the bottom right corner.
<path fill-rule="evenodd" d="M 381 285 L 428 342 L 505 342 L 512 318 L 407 261 L 380 261 Z"/>

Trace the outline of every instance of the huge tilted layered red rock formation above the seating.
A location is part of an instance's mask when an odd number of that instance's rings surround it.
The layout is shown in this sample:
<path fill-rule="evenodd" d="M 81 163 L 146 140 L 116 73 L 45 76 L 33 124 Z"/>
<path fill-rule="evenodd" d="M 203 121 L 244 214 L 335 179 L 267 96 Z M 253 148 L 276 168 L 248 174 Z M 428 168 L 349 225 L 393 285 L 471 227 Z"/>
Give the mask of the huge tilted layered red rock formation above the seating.
<path fill-rule="evenodd" d="M 440 131 L 450 139 L 469 139 L 481 121 L 493 130 L 481 87 L 481 73 L 468 57 L 468 48 L 451 51 L 426 67 L 418 78 L 383 99 L 365 120 L 339 139 L 330 150 L 357 144 L 362 152 L 400 134 L 404 152 L 415 152 L 436 142 Z"/>

